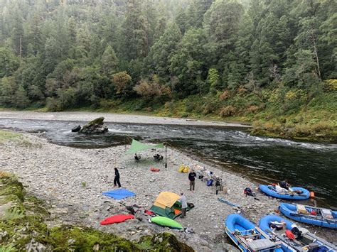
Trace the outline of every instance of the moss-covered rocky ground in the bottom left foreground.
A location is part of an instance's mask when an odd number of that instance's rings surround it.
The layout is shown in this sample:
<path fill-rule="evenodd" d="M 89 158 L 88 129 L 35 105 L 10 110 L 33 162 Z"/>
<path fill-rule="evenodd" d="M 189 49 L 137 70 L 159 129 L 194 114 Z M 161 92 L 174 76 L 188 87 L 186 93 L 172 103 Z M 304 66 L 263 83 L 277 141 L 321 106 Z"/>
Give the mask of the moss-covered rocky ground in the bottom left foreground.
<path fill-rule="evenodd" d="M 14 175 L 0 172 L 0 251 L 193 251 L 169 233 L 138 242 L 81 226 L 49 228 L 46 204 L 26 194 Z"/>

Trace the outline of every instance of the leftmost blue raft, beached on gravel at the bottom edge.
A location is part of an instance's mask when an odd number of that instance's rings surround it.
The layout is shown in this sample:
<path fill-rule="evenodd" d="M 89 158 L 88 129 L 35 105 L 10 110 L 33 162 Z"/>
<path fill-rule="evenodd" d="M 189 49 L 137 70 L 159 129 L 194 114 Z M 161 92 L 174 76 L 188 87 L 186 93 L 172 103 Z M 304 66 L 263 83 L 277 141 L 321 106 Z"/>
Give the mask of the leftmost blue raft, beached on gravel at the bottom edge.
<path fill-rule="evenodd" d="M 240 251 L 282 251 L 280 241 L 272 241 L 259 227 L 240 214 L 228 215 L 225 231 Z"/>

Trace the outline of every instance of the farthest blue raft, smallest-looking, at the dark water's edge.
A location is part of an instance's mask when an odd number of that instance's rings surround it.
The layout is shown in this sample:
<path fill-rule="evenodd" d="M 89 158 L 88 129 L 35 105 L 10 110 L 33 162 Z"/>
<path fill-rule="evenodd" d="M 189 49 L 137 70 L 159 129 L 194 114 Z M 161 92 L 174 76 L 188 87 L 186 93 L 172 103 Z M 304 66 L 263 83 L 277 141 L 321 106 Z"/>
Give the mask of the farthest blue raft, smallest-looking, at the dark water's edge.
<path fill-rule="evenodd" d="M 309 190 L 306 190 L 305 188 L 302 187 L 291 187 L 292 192 L 282 192 L 278 193 L 275 190 L 274 185 L 260 185 L 259 186 L 260 190 L 264 192 L 266 195 L 278 198 L 278 199 L 309 199 L 310 197 L 310 192 Z M 301 190 L 301 193 L 298 194 L 296 191 Z"/>

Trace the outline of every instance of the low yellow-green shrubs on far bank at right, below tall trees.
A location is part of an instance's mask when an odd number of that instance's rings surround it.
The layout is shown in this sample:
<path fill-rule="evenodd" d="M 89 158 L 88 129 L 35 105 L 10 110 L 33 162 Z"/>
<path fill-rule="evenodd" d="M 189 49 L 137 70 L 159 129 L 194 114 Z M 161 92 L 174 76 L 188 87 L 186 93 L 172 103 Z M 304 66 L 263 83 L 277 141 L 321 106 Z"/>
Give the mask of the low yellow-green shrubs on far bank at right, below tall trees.
<path fill-rule="evenodd" d="M 240 87 L 166 102 L 156 114 L 247 122 L 252 135 L 337 141 L 337 80 L 321 82 L 311 92 L 282 84 Z"/>

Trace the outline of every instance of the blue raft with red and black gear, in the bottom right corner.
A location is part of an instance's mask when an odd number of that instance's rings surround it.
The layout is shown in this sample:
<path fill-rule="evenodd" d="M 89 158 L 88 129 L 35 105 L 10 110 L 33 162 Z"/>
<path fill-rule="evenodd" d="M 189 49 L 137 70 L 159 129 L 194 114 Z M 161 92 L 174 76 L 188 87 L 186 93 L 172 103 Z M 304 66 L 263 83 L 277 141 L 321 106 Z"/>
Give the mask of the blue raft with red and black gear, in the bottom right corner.
<path fill-rule="evenodd" d="M 270 224 L 277 221 L 277 223 L 284 222 L 284 227 L 280 230 L 272 229 L 270 227 Z M 260 219 L 259 222 L 260 229 L 264 231 L 266 234 L 268 234 L 272 239 L 276 241 L 281 241 L 282 249 L 284 251 L 336 251 L 337 247 L 333 245 L 332 243 L 329 243 L 328 241 L 319 238 L 318 236 L 315 236 L 314 234 L 310 233 L 307 229 L 301 228 L 300 226 L 296 226 L 291 221 L 288 221 L 287 219 L 284 219 L 282 217 L 279 217 L 277 215 L 267 215 Z M 282 225 L 280 225 L 282 226 Z M 294 227 L 297 227 L 299 231 L 301 232 L 300 237 L 296 237 L 296 239 L 289 239 L 285 231 L 289 229 L 293 229 Z"/>

